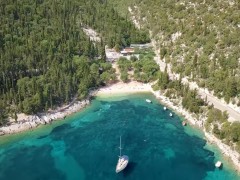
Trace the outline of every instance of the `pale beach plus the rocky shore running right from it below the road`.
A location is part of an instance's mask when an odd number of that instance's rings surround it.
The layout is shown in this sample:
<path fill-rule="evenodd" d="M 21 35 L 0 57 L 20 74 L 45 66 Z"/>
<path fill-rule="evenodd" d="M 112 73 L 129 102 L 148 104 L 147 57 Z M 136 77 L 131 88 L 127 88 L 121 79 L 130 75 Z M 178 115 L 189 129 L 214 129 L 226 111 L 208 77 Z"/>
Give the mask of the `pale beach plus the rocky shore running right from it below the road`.
<path fill-rule="evenodd" d="M 123 87 L 122 89 L 119 87 Z M 128 87 L 127 87 L 128 85 Z M 134 85 L 134 87 L 129 87 L 129 85 Z M 142 86 L 142 87 L 141 87 Z M 140 88 L 141 87 L 141 88 Z M 208 133 L 204 129 L 204 121 L 206 120 L 205 117 L 199 117 L 198 120 L 197 117 L 193 113 L 188 112 L 186 109 L 184 109 L 181 105 L 181 103 L 174 104 L 168 97 L 165 97 L 163 94 L 160 93 L 160 91 L 154 91 L 150 84 L 143 84 L 139 82 L 130 82 L 130 83 L 117 83 L 100 89 L 96 96 L 102 96 L 102 95 L 114 95 L 119 93 L 141 93 L 141 92 L 151 92 L 155 98 L 160 101 L 161 104 L 166 105 L 168 108 L 175 111 L 177 114 L 181 115 L 185 120 L 187 120 L 191 125 L 193 125 L 195 128 L 200 129 L 204 136 L 205 140 L 208 144 L 215 144 L 218 149 L 221 151 L 221 154 L 226 157 L 227 159 L 230 159 L 234 165 L 234 168 L 236 171 L 240 172 L 240 154 L 234 150 L 231 149 L 230 146 L 224 144 L 221 142 L 221 140 L 217 139 L 213 134 Z"/>

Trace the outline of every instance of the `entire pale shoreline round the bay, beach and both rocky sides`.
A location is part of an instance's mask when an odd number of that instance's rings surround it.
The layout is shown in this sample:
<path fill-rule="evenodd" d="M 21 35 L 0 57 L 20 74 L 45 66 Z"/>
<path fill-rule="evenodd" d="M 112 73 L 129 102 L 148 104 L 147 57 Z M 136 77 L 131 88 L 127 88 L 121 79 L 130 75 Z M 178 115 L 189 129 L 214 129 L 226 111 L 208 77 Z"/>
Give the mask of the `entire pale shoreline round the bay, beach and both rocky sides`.
<path fill-rule="evenodd" d="M 65 107 L 59 107 L 53 112 L 48 113 L 39 113 L 38 115 L 23 115 L 19 114 L 19 119 L 16 122 L 13 122 L 10 126 L 3 126 L 0 128 L 0 135 L 14 134 L 22 131 L 27 131 L 38 127 L 41 124 L 51 123 L 53 120 L 65 119 L 66 116 L 69 116 L 75 112 L 78 112 L 90 104 L 90 97 L 92 96 L 111 96 L 116 94 L 131 94 L 131 93 L 143 93 L 151 92 L 161 104 L 164 104 L 175 111 L 177 114 L 180 114 L 187 120 L 191 125 L 199 128 L 205 135 L 207 143 L 214 143 L 221 150 L 222 154 L 230 159 L 238 172 L 240 172 L 240 155 L 238 152 L 231 149 L 230 146 L 221 142 L 213 134 L 208 133 L 203 128 L 205 118 L 200 117 L 198 120 L 194 114 L 185 110 L 181 103 L 174 103 L 174 100 L 170 100 L 168 97 L 165 97 L 161 94 L 160 91 L 154 91 L 151 87 L 151 84 L 144 84 L 136 81 L 131 81 L 129 83 L 118 82 L 109 86 L 99 88 L 97 90 L 91 91 L 89 96 L 82 101 L 74 101 L 68 104 Z M 1 134 L 2 133 L 2 134 Z"/>

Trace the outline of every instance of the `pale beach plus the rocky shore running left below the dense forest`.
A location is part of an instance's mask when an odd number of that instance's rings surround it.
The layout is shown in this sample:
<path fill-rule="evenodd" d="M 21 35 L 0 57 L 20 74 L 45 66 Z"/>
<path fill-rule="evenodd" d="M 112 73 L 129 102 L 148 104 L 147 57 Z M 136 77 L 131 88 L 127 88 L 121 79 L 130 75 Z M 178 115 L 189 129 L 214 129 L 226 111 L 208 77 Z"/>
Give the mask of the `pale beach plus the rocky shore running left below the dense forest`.
<path fill-rule="evenodd" d="M 35 115 L 26 115 L 24 113 L 17 114 L 18 119 L 15 121 L 9 118 L 9 125 L 0 127 L 0 136 L 16 134 L 27 130 L 33 130 L 40 125 L 52 123 L 55 120 L 65 119 L 67 116 L 79 112 L 90 104 L 90 98 L 93 96 L 113 95 L 120 93 L 136 93 L 136 92 L 150 92 L 151 86 L 148 84 L 130 81 L 129 83 L 118 82 L 113 85 L 104 86 L 97 90 L 90 91 L 88 97 L 82 101 L 75 101 L 73 99 L 67 105 L 58 107 L 55 110 L 49 110 L 46 113 L 37 113 Z"/>

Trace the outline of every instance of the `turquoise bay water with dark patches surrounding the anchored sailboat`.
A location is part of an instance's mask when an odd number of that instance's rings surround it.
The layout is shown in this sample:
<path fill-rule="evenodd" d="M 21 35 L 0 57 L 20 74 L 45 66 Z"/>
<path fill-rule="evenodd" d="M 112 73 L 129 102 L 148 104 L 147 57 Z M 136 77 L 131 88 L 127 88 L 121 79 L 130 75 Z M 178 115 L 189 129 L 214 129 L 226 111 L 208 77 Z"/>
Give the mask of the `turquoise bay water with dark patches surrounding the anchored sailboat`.
<path fill-rule="evenodd" d="M 169 112 L 149 94 L 97 98 L 65 121 L 1 137 L 0 179 L 240 179 L 217 149 L 205 148 L 200 132 Z M 120 135 L 130 163 L 116 174 Z"/>

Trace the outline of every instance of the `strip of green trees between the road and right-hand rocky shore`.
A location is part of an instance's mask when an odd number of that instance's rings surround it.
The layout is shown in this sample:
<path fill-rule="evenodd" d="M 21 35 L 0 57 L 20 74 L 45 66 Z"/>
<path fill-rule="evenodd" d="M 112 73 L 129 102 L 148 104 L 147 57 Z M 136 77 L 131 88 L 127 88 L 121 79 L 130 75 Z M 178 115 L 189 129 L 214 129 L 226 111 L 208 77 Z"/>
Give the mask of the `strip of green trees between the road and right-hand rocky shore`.
<path fill-rule="evenodd" d="M 182 85 L 180 82 L 180 80 L 169 80 L 168 74 L 161 72 L 158 83 L 153 88 L 161 89 L 165 96 L 173 101 L 181 102 L 182 106 L 197 115 L 196 117 L 200 113 L 206 115 L 207 119 L 203 124 L 206 131 L 213 133 L 240 153 L 240 123 L 230 123 L 227 112 L 207 106 L 206 102 L 198 97 L 195 90 L 190 90 L 188 86 Z"/>

